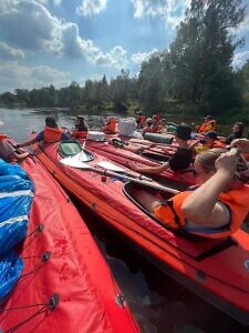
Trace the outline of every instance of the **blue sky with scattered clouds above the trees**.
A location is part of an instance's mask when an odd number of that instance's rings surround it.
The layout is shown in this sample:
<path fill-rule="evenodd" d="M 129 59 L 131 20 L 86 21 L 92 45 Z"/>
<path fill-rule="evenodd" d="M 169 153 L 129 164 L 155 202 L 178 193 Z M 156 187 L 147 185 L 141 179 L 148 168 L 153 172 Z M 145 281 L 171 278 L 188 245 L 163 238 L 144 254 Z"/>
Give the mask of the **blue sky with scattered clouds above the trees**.
<path fill-rule="evenodd" d="M 243 0 L 246 4 L 248 0 Z M 169 47 L 190 0 L 0 0 L 0 93 L 137 75 Z M 249 6 L 248 6 L 249 7 Z M 234 31 L 246 37 L 234 67 L 249 59 L 249 8 Z"/>

